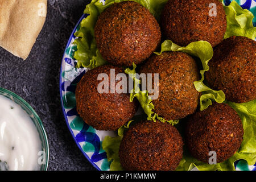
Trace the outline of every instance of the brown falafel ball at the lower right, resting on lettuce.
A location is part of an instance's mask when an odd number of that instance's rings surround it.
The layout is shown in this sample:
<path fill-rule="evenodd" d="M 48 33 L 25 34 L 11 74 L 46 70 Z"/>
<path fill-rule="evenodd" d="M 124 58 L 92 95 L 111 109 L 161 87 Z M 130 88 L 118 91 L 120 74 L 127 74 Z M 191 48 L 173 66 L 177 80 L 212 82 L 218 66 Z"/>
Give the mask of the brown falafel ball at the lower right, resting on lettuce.
<path fill-rule="evenodd" d="M 243 126 L 232 107 L 214 103 L 189 117 L 185 135 L 188 150 L 197 160 L 209 163 L 209 152 L 215 151 L 221 163 L 241 146 Z"/>

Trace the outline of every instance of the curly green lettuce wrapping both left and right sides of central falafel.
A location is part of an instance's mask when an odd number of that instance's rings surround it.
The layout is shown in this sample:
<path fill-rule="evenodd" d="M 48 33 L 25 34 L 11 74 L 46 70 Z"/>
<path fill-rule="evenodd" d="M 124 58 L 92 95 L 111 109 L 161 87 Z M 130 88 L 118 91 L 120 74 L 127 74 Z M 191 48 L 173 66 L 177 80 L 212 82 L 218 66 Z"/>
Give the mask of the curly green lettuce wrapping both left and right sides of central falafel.
<path fill-rule="evenodd" d="M 161 45 L 161 51 L 155 52 L 157 55 L 160 55 L 162 52 L 166 51 L 181 51 L 188 53 L 191 56 L 199 57 L 201 60 L 201 64 L 203 65 L 203 69 L 200 71 L 201 74 L 201 80 L 195 81 L 194 85 L 198 92 L 201 93 L 200 97 L 200 110 L 206 109 L 209 105 L 212 105 L 212 100 L 216 101 L 218 103 L 222 103 L 225 101 L 225 94 L 221 90 L 213 90 L 210 89 L 207 85 L 204 84 L 204 73 L 205 71 L 209 71 L 208 62 L 210 59 L 212 59 L 213 56 L 213 49 L 212 46 L 208 42 L 205 41 L 199 41 L 199 42 L 193 42 L 189 44 L 187 47 L 180 47 L 174 44 L 171 40 L 166 40 Z M 127 68 L 125 72 L 129 74 L 133 79 L 134 83 L 139 83 L 138 78 L 136 78 L 134 75 L 136 73 L 135 71 L 136 65 L 133 65 L 133 69 Z M 152 104 L 152 100 L 150 96 L 148 96 L 147 92 L 143 92 L 139 90 L 139 87 L 135 84 L 134 90 L 132 90 L 130 94 L 130 101 L 132 102 L 134 97 L 137 98 L 139 103 L 141 104 L 144 112 L 148 115 L 148 120 L 150 121 L 156 121 L 158 119 L 159 121 L 166 122 L 166 120 L 162 117 L 159 117 L 157 113 L 154 113 L 154 105 Z M 179 121 L 177 120 L 171 120 L 167 121 L 171 123 L 172 125 L 177 124 Z"/>

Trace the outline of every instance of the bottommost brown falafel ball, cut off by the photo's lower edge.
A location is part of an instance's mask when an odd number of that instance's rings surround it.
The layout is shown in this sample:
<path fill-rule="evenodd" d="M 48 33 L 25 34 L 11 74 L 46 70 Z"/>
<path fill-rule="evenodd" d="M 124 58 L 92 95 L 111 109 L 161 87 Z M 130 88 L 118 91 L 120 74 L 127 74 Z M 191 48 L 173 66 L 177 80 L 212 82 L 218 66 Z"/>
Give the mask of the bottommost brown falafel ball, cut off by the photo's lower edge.
<path fill-rule="evenodd" d="M 128 171 L 172 171 L 179 166 L 182 156 L 179 131 L 160 121 L 131 126 L 119 147 L 120 163 Z"/>

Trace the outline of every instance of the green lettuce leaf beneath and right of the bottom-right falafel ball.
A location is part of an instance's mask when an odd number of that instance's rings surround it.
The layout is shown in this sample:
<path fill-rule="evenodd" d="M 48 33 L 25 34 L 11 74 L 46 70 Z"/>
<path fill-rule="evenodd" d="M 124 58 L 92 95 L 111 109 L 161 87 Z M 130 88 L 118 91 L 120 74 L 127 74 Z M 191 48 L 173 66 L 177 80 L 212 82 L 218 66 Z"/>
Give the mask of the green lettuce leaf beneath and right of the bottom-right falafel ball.
<path fill-rule="evenodd" d="M 243 141 L 236 152 L 231 158 L 222 163 L 217 164 L 206 164 L 196 160 L 189 154 L 187 148 L 184 148 L 183 159 L 181 160 L 177 170 L 191 170 L 196 167 L 201 171 L 234 171 L 234 163 L 237 160 L 245 160 L 247 164 L 254 165 L 256 162 L 256 100 L 236 104 L 234 102 L 225 101 L 230 107 L 237 111 L 237 114 L 240 116 L 244 135 Z"/>

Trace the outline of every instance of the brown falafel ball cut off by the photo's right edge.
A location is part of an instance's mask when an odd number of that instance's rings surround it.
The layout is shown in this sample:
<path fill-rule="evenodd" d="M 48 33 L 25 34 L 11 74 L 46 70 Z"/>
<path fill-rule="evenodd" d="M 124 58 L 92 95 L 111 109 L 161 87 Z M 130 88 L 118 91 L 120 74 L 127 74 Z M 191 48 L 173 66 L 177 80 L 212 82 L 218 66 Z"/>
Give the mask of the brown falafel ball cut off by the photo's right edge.
<path fill-rule="evenodd" d="M 232 36 L 214 48 L 205 78 L 212 89 L 222 90 L 226 99 L 242 103 L 256 98 L 256 42 Z"/>

